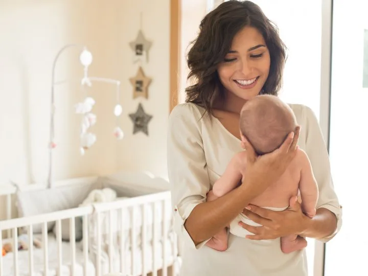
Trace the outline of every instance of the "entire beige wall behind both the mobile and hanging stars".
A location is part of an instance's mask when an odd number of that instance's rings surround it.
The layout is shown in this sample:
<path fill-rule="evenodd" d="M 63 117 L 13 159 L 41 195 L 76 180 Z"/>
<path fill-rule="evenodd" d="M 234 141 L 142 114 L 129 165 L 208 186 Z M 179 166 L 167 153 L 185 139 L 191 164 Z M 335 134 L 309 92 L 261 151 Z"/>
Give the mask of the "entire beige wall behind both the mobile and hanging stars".
<path fill-rule="evenodd" d="M 56 88 L 56 143 L 54 178 L 106 174 L 120 170 L 147 170 L 166 176 L 166 126 L 169 102 L 169 0 L 37 0 L 0 3 L 0 183 L 44 182 L 48 174 L 51 70 L 57 51 L 67 43 L 86 44 L 93 53 L 90 75 L 122 82 L 125 139 L 112 136 L 116 125 L 113 85 L 94 83 L 88 89 L 96 99 L 97 143 L 79 154 L 79 122 L 73 106 L 83 99 L 79 50 L 64 52 L 56 79 L 76 81 Z M 144 65 L 153 79 L 149 100 L 132 99 L 129 78 L 132 63 L 129 42 L 135 39 L 143 10 L 143 31 L 153 44 Z M 142 102 L 152 114 L 149 137 L 132 135 L 128 113 Z"/>

